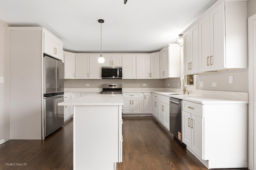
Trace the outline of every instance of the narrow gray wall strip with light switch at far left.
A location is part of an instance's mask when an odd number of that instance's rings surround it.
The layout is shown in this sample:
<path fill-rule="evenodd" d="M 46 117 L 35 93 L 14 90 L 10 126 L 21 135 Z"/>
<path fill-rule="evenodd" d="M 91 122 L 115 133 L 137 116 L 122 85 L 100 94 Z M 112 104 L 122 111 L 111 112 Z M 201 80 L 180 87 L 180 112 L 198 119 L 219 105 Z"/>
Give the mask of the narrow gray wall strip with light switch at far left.
<path fill-rule="evenodd" d="M 4 83 L 0 83 L 0 140 L 8 141 L 9 132 L 9 93 L 10 93 L 10 34 L 9 24 L 0 20 L 0 76 Z"/>

